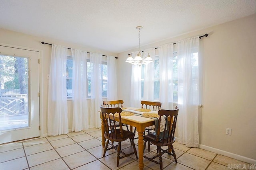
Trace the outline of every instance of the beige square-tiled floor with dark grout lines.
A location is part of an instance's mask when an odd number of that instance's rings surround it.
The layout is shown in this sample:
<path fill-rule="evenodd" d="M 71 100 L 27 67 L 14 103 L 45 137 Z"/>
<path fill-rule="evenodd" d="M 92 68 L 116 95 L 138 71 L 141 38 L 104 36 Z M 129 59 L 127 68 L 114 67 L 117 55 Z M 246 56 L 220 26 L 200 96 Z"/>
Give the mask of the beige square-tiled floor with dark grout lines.
<path fill-rule="evenodd" d="M 103 158 L 101 130 L 71 132 L 67 135 L 49 136 L 17 143 L 0 145 L 0 170 L 137 170 L 138 159 L 133 155 L 120 159 L 116 167 L 116 150 L 108 150 Z M 138 150 L 138 139 L 134 140 Z M 188 148 L 174 143 L 178 163 L 168 154 L 163 156 L 165 170 L 226 170 L 228 164 L 248 164 L 220 154 L 198 148 Z M 122 143 L 122 150 L 129 153 L 129 141 Z M 154 155 L 156 147 L 151 145 Z M 158 170 L 158 164 L 144 159 L 145 170 Z"/>

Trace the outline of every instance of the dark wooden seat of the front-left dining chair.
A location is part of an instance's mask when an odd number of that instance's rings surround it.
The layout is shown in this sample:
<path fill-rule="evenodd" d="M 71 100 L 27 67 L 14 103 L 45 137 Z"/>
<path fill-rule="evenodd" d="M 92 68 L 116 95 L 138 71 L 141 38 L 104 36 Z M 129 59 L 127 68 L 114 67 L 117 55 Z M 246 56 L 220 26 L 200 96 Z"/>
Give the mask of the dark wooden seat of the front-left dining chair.
<path fill-rule="evenodd" d="M 120 135 L 120 129 L 116 129 L 116 133 L 114 133 L 114 131 L 113 131 L 112 133 L 110 132 L 110 133 L 109 133 L 109 136 L 110 136 L 110 137 L 108 137 L 108 136 L 106 135 L 106 133 L 105 133 L 105 134 L 104 134 L 104 137 L 105 137 L 106 139 L 109 139 L 110 141 L 121 142 L 121 141 L 125 141 L 126 139 L 129 139 L 129 138 L 135 136 L 135 134 L 132 133 L 132 132 L 130 132 L 130 131 L 123 130 L 123 133 L 124 133 L 124 136 L 121 137 L 121 135 Z M 113 138 L 112 138 L 112 135 L 113 135 Z"/>

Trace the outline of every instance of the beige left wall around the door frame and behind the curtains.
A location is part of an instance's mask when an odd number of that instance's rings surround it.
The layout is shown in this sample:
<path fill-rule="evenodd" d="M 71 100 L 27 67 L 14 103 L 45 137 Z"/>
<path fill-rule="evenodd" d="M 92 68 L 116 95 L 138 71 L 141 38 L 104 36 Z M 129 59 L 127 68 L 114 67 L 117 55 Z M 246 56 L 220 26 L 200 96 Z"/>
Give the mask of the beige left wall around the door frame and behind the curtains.
<path fill-rule="evenodd" d="M 47 78 L 50 72 L 50 57 L 51 57 L 51 45 L 42 45 L 42 41 L 46 43 L 54 43 L 63 45 L 69 48 L 81 49 L 88 52 L 99 53 L 102 55 L 112 55 L 116 56 L 115 53 L 109 53 L 106 51 L 101 51 L 99 49 L 93 49 L 90 47 L 82 47 L 76 44 L 70 44 L 63 41 L 58 41 L 56 39 L 50 39 L 45 37 L 36 37 L 32 35 L 27 35 L 23 33 L 18 33 L 14 31 L 9 31 L 6 29 L 0 29 L 0 43 L 4 43 L 10 47 L 20 46 L 24 49 L 37 49 L 40 51 L 40 135 L 47 135 L 47 106 L 48 106 L 48 84 L 49 80 Z M 70 53 L 70 50 L 68 50 Z M 88 101 L 88 106 L 90 107 L 90 100 Z M 90 110 L 90 109 L 88 109 Z M 68 101 L 68 129 L 72 129 L 72 100 Z"/>

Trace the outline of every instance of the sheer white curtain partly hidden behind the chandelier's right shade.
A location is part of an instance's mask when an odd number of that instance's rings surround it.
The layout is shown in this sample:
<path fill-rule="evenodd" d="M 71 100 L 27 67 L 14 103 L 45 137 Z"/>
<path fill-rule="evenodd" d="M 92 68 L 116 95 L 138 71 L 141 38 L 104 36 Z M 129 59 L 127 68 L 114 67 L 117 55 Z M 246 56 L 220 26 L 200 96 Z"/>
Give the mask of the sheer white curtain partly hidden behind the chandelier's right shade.
<path fill-rule="evenodd" d="M 144 65 L 144 92 L 143 100 L 153 101 L 154 100 L 154 61 L 155 61 L 155 48 L 146 49 L 153 59 L 150 64 Z"/>

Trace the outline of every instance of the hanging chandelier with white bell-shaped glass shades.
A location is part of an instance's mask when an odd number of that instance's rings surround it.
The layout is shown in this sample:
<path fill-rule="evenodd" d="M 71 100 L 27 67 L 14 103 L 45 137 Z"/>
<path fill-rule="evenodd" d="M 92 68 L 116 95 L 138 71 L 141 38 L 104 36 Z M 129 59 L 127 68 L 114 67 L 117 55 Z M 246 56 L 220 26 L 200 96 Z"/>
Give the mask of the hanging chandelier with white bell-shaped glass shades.
<path fill-rule="evenodd" d="M 139 30 L 139 36 L 138 36 L 139 37 L 139 50 L 134 59 L 132 58 L 133 52 L 128 54 L 129 57 L 126 59 L 125 62 L 134 64 L 134 65 L 139 65 L 139 66 L 141 66 L 142 64 L 152 63 L 153 59 L 150 57 L 149 53 L 147 51 L 145 51 L 145 52 L 140 51 L 140 30 L 142 29 L 142 26 L 137 26 L 136 29 Z"/>

